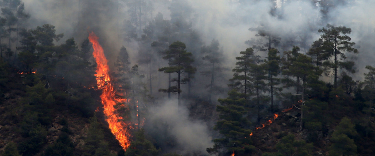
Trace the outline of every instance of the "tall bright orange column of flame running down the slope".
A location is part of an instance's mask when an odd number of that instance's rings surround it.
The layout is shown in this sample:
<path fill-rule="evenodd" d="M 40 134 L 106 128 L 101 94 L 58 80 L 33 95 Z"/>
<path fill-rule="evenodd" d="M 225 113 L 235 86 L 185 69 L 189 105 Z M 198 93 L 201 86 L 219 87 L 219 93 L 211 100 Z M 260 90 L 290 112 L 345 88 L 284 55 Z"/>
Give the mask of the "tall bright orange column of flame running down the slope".
<path fill-rule="evenodd" d="M 97 37 L 93 32 L 89 35 L 89 40 L 93 45 L 93 56 L 96 64 L 96 85 L 98 89 L 102 89 L 102 95 L 100 96 L 104 108 L 105 120 L 108 122 L 109 128 L 112 134 L 116 137 L 121 147 L 126 150 L 130 146 L 130 123 L 126 123 L 123 117 L 114 113 L 114 105 L 117 103 L 123 103 L 126 99 L 116 98 L 115 91 L 111 84 L 111 78 L 109 75 L 110 68 L 108 67 L 107 58 L 104 56 L 104 51 L 98 42 Z"/>

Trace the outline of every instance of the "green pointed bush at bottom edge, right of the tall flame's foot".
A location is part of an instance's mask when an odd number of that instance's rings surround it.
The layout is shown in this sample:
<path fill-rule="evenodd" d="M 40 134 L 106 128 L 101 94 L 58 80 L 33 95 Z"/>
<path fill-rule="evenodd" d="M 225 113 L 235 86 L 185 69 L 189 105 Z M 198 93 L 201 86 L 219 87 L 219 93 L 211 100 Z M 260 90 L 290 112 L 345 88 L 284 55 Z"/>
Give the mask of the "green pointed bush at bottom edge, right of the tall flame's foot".
<path fill-rule="evenodd" d="M 134 135 L 134 141 L 126 150 L 125 156 L 156 156 L 160 153 L 160 149 L 156 149 L 151 141 L 147 140 L 144 129 L 140 129 Z"/>

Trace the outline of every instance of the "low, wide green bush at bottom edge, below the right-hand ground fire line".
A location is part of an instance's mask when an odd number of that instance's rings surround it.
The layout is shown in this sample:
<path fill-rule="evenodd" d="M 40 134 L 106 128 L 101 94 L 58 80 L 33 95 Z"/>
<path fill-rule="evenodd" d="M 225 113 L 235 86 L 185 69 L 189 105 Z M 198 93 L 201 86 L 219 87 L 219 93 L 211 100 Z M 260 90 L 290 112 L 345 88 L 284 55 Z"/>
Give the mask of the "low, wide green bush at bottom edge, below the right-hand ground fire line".
<path fill-rule="evenodd" d="M 276 144 L 276 153 L 263 153 L 262 156 L 311 156 L 312 143 L 308 144 L 305 140 L 296 140 L 293 134 L 281 138 Z"/>

